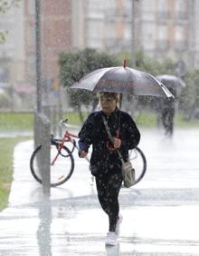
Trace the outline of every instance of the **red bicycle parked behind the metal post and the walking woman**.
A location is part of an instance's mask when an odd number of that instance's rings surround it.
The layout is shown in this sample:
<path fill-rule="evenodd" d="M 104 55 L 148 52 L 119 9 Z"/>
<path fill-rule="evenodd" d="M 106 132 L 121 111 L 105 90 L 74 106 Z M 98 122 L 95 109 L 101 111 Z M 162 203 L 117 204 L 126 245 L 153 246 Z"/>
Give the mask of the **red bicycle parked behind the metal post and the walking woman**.
<path fill-rule="evenodd" d="M 79 150 L 76 143 L 78 136 L 70 133 L 68 129 L 67 119 L 62 120 L 60 124 L 64 125 L 66 129 L 61 139 L 54 138 L 51 136 L 51 186 L 56 187 L 67 182 L 74 171 L 75 162 L 73 157 L 74 149 Z M 39 171 L 41 166 L 41 152 L 43 145 L 38 146 L 31 156 L 30 168 L 33 177 L 37 182 L 42 183 L 42 176 Z M 136 147 L 129 151 L 129 159 L 136 170 L 136 182 L 140 182 L 144 177 L 147 170 L 147 161 L 144 153 Z M 86 160 L 90 162 L 90 158 Z"/>

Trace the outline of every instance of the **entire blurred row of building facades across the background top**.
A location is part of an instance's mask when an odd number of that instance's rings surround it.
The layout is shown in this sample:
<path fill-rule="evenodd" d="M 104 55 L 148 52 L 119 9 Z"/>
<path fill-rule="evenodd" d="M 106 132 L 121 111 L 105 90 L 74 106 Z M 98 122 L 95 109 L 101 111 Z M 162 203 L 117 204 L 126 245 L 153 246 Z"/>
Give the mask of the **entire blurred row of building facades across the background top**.
<path fill-rule="evenodd" d="M 196 0 L 41 0 L 43 83 L 59 74 L 58 58 L 71 49 L 111 53 L 137 51 L 172 58 L 178 74 L 199 67 L 199 1 Z M 35 84 L 35 1 L 0 15 L 8 30 L 0 44 L 0 82 Z"/>

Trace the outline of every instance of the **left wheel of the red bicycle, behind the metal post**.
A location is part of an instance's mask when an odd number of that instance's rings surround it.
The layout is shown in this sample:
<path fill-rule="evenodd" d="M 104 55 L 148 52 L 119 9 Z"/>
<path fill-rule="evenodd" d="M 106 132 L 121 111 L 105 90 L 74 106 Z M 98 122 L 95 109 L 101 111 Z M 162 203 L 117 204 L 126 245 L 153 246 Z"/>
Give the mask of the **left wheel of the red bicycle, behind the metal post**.
<path fill-rule="evenodd" d="M 41 151 L 42 145 L 36 148 L 32 154 L 30 161 L 30 168 L 33 174 L 33 177 L 37 182 L 42 183 L 42 175 L 39 171 L 39 165 L 41 163 Z M 71 178 L 71 174 L 74 170 L 74 159 L 70 152 L 70 150 L 63 146 L 62 151 L 65 151 L 65 157 L 62 157 L 61 153 L 59 153 L 58 158 L 54 163 L 53 160 L 56 157 L 58 150 L 57 146 L 51 145 L 51 186 L 56 187 L 61 185 L 62 183 L 68 181 Z"/>

